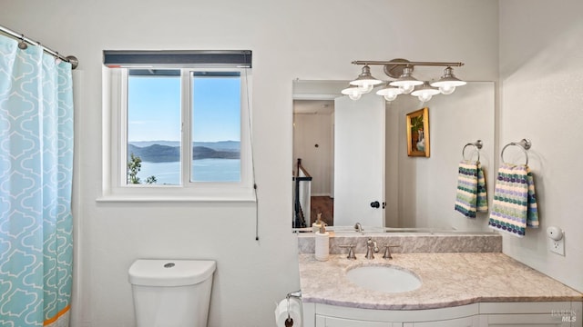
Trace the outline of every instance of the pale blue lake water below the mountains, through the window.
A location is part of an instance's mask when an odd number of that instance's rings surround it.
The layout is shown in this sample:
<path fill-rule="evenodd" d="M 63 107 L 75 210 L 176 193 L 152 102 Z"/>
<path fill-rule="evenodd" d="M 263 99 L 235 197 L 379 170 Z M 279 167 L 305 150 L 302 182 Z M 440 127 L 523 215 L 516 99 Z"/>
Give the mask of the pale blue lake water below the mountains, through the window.
<path fill-rule="evenodd" d="M 192 161 L 194 182 L 239 182 L 240 159 L 199 159 Z M 142 183 L 148 176 L 156 176 L 158 185 L 180 183 L 180 163 L 146 163 L 138 177 Z"/>

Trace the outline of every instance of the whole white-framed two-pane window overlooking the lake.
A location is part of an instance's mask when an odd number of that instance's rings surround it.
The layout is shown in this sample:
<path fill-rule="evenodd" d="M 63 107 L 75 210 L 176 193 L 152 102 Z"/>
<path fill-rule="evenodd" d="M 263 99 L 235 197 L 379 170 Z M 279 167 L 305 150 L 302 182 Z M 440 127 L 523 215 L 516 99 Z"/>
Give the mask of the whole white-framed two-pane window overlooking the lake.
<path fill-rule="evenodd" d="M 252 200 L 250 69 L 107 54 L 102 200 Z"/>

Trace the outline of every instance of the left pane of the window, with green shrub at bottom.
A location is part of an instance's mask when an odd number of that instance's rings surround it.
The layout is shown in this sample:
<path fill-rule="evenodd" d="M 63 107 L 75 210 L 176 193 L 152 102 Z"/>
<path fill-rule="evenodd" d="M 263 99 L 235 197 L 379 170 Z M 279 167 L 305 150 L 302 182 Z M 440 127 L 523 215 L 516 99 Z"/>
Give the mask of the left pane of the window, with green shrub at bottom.
<path fill-rule="evenodd" d="M 127 124 L 121 127 L 126 127 L 128 136 L 122 159 L 128 163 L 125 184 L 181 184 L 180 71 L 129 69 L 124 73 L 122 83 L 127 92 L 122 101 L 127 105 Z"/>

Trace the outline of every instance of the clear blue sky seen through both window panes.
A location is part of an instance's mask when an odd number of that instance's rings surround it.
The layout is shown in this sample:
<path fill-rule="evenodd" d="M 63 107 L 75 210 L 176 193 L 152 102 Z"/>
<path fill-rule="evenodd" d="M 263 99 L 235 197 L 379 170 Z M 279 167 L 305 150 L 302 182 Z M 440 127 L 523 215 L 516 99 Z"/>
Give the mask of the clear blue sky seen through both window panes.
<path fill-rule="evenodd" d="M 240 141 L 239 79 L 195 77 L 193 87 L 193 141 Z M 128 141 L 179 140 L 179 76 L 132 76 L 128 85 Z"/>

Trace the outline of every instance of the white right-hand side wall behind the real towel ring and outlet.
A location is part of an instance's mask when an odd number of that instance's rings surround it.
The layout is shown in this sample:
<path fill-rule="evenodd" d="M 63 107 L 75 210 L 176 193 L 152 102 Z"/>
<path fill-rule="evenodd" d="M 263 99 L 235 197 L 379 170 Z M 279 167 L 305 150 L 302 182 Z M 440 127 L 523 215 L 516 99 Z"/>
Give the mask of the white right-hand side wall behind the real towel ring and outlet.
<path fill-rule="evenodd" d="M 532 141 L 541 228 L 504 237 L 504 252 L 583 291 L 583 2 L 500 1 L 500 148 Z M 511 156 L 508 156 L 508 161 Z M 506 153 L 505 153 L 506 159 Z M 518 157 L 517 160 L 522 160 Z M 565 230 L 562 257 L 547 251 L 548 226 Z"/>

